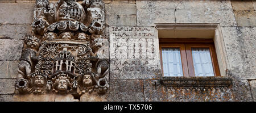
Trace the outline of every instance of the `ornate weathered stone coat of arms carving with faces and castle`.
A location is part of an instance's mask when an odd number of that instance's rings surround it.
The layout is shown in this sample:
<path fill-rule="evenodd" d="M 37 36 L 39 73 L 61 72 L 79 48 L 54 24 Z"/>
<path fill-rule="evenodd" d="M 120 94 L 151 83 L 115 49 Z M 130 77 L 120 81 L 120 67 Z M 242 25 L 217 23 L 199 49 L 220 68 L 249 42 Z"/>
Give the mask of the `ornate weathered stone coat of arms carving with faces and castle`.
<path fill-rule="evenodd" d="M 18 68 L 19 94 L 105 94 L 109 88 L 104 46 L 104 2 L 37 0 L 33 36 L 25 37 Z"/>

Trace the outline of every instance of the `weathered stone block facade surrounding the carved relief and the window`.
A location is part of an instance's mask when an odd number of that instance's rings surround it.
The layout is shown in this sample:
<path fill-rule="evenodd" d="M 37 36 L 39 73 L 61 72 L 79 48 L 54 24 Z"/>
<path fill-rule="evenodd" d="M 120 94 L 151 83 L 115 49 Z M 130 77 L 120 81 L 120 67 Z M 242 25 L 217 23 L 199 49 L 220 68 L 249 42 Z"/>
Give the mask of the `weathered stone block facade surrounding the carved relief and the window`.
<path fill-rule="evenodd" d="M 36 0 L 0 1 L 0 101 L 256 101 L 255 1 L 103 1 L 104 46 L 98 51 L 104 52 L 98 57 L 109 60 L 108 91 L 64 95 L 17 94 L 26 36 L 36 32 Z M 220 78 L 162 77 L 156 23 L 218 24 L 228 72 Z"/>

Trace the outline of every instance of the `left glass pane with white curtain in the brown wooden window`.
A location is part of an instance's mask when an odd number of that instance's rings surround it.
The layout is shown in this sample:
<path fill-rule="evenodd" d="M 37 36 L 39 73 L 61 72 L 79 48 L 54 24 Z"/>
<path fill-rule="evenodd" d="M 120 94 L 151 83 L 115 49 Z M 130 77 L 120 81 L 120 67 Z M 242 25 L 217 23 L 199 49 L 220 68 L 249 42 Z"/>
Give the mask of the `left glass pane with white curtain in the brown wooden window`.
<path fill-rule="evenodd" d="M 164 76 L 183 76 L 180 48 L 162 48 Z"/>

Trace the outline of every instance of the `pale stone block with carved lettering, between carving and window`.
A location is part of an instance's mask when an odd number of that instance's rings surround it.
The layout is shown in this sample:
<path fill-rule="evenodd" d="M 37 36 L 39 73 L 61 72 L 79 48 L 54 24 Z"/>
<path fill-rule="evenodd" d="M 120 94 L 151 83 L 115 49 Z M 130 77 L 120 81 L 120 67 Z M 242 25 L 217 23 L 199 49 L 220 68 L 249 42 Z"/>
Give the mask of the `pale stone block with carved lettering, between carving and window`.
<path fill-rule="evenodd" d="M 110 78 L 155 78 L 159 43 L 154 27 L 109 27 Z"/>

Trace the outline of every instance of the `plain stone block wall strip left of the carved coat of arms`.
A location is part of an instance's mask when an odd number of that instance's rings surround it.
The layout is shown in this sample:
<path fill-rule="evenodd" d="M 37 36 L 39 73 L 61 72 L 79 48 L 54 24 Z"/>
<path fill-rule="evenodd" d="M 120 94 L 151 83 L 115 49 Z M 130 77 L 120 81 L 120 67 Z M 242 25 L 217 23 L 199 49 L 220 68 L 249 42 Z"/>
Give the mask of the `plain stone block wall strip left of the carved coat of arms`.
<path fill-rule="evenodd" d="M 0 1 L 0 101 L 13 101 L 23 36 L 31 34 L 34 4 L 6 2 L 15 1 Z"/>

